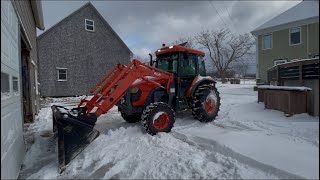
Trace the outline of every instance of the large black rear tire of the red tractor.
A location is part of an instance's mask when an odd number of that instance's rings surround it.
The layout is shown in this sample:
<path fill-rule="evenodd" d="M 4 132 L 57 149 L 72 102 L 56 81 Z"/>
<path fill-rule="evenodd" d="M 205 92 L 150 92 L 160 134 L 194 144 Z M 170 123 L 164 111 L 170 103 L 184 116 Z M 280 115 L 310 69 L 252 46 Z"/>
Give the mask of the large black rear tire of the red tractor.
<path fill-rule="evenodd" d="M 211 94 L 212 93 L 212 94 Z M 206 99 L 210 95 L 214 95 L 214 108 L 212 112 L 207 112 L 206 110 Z M 210 98 L 208 97 L 208 98 Z M 197 87 L 191 97 L 191 109 L 192 115 L 195 119 L 200 122 L 212 122 L 220 110 L 220 96 L 217 88 L 214 84 L 202 84 Z"/>

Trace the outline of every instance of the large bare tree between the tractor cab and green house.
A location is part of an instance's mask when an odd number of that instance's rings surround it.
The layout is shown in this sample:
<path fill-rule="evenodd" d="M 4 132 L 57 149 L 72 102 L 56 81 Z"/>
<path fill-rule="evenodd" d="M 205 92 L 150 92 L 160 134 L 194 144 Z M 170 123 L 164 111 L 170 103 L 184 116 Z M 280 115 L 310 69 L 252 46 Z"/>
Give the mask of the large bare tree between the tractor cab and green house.
<path fill-rule="evenodd" d="M 195 40 L 202 48 L 209 51 L 208 57 L 222 80 L 231 64 L 245 55 L 252 54 L 251 49 L 254 45 L 254 40 L 248 33 L 234 35 L 225 29 L 202 31 L 195 36 Z"/>

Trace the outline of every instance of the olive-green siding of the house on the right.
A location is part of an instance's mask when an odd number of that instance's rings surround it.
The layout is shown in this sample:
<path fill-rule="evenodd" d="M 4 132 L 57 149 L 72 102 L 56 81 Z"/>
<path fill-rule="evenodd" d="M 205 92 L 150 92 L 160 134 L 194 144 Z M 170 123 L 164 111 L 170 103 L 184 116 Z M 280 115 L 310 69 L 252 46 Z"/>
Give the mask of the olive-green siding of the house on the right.
<path fill-rule="evenodd" d="M 267 70 L 273 66 L 275 59 L 305 59 L 309 55 L 319 54 L 319 23 L 299 27 L 301 27 L 301 43 L 298 45 L 289 45 L 289 29 L 269 32 L 272 33 L 272 49 L 262 50 L 263 35 L 258 36 L 258 72 L 261 82 L 267 81 Z"/>

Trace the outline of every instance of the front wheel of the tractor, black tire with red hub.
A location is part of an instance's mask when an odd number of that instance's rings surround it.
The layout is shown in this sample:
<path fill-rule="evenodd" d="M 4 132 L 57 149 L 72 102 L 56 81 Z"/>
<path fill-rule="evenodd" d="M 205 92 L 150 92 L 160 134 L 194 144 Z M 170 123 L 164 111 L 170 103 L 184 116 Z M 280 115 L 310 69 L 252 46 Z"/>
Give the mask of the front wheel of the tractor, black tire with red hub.
<path fill-rule="evenodd" d="M 158 113 L 162 114 L 159 115 Z M 158 117 L 155 117 L 156 115 Z M 162 120 L 162 116 L 164 116 L 165 120 Z M 175 113 L 173 109 L 164 102 L 151 103 L 143 110 L 141 115 L 141 123 L 146 132 L 151 135 L 155 135 L 158 132 L 170 132 L 174 122 Z"/>

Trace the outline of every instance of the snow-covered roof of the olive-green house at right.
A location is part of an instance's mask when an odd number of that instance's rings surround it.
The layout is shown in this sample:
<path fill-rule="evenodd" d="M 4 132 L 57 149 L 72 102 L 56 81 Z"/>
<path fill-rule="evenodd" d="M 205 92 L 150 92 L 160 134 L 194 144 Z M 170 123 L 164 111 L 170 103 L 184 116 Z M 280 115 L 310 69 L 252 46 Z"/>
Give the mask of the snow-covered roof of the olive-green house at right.
<path fill-rule="evenodd" d="M 313 17 L 319 17 L 319 1 L 302 1 L 252 32 Z"/>

